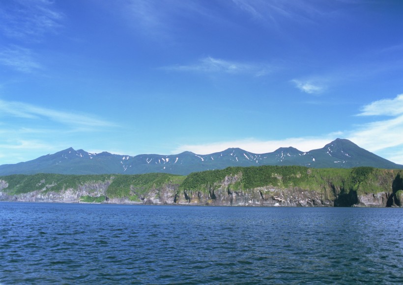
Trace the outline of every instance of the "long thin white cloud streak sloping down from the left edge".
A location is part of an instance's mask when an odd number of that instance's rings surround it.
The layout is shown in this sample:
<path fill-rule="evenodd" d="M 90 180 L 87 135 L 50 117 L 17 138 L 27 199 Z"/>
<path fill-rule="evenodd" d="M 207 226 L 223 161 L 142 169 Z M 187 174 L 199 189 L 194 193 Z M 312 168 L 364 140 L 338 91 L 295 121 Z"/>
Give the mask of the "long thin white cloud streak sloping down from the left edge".
<path fill-rule="evenodd" d="M 25 119 L 48 119 L 75 128 L 82 127 L 112 127 L 113 123 L 88 114 L 65 112 L 39 107 L 21 102 L 0 100 L 0 117 L 12 116 Z"/>

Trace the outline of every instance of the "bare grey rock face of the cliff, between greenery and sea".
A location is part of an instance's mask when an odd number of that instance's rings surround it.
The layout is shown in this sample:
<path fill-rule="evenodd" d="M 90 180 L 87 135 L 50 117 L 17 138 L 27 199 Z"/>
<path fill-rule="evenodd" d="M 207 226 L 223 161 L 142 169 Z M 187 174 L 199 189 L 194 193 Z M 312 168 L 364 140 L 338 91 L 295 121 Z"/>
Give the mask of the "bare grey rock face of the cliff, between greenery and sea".
<path fill-rule="evenodd" d="M 103 203 L 147 204 L 147 205 L 211 205 L 211 206 L 266 206 L 266 207 L 393 207 L 403 205 L 403 191 L 374 192 L 357 195 L 336 187 L 329 182 L 320 191 L 301 187 L 280 188 L 274 186 L 257 187 L 247 190 L 233 190 L 240 176 L 226 176 L 221 183 L 200 190 L 180 189 L 179 184 L 166 183 L 138 195 L 139 200 L 129 197 L 108 197 L 111 181 L 93 182 L 79 185 L 76 189 L 50 191 L 49 185 L 29 193 L 9 195 L 4 189 L 7 181 L 0 180 L 0 201 L 80 203 L 81 197 L 105 196 Z M 398 181 L 400 182 L 400 181 Z M 396 183 L 395 183 L 396 184 Z M 399 184 L 399 186 L 401 186 Z M 131 186 L 130 192 L 136 194 Z M 389 203 L 389 204 L 388 204 Z"/>

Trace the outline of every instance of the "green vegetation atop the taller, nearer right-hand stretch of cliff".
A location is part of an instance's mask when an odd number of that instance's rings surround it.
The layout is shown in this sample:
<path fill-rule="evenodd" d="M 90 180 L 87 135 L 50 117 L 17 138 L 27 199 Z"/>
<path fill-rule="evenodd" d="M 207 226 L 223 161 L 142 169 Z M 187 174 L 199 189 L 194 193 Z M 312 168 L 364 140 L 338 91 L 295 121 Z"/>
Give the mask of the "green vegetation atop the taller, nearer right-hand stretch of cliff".
<path fill-rule="evenodd" d="M 402 170 L 373 167 L 351 169 L 317 169 L 303 166 L 229 167 L 222 170 L 196 172 L 188 175 L 180 185 L 182 190 L 209 191 L 220 187 L 226 177 L 236 178 L 228 185 L 230 190 L 248 190 L 257 187 L 299 187 L 336 192 L 355 191 L 357 194 L 391 191 L 391 183 Z"/>

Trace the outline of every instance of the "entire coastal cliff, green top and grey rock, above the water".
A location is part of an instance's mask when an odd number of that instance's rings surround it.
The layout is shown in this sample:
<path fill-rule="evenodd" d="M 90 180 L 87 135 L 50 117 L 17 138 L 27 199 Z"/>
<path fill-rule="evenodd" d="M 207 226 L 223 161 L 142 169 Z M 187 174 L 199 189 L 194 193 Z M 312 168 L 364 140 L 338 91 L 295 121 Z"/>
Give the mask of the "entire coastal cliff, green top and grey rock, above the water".
<path fill-rule="evenodd" d="M 0 201 L 267 207 L 402 207 L 403 173 L 372 167 L 230 167 L 188 176 L 11 175 Z"/>

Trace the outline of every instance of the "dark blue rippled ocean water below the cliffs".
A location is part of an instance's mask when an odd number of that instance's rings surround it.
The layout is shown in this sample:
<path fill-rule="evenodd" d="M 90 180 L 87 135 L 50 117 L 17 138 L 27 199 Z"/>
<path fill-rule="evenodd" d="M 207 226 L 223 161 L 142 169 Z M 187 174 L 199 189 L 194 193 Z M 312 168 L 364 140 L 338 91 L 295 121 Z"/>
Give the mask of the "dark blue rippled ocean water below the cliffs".
<path fill-rule="evenodd" d="M 0 284 L 399 284 L 403 208 L 0 203 Z"/>

